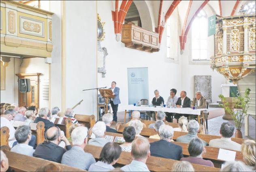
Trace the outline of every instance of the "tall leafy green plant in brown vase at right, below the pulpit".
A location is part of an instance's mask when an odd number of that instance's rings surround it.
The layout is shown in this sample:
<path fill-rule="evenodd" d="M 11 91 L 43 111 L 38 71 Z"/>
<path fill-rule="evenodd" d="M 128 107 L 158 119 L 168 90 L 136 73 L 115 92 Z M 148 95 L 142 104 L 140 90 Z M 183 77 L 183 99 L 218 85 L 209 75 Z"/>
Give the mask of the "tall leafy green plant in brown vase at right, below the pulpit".
<path fill-rule="evenodd" d="M 235 122 L 235 126 L 237 128 L 235 137 L 237 138 L 243 138 L 241 127 L 243 124 L 243 120 L 247 114 L 247 109 L 249 108 L 251 99 L 249 97 L 250 94 L 250 88 L 245 89 L 245 96 L 238 96 L 234 97 L 233 101 L 235 102 L 234 110 L 230 108 L 229 103 L 226 102 L 226 97 L 224 97 L 222 94 L 219 95 L 219 98 L 223 102 L 223 104 L 220 104 L 221 107 L 223 107 L 228 113 L 230 113 L 233 117 L 233 120 Z"/>

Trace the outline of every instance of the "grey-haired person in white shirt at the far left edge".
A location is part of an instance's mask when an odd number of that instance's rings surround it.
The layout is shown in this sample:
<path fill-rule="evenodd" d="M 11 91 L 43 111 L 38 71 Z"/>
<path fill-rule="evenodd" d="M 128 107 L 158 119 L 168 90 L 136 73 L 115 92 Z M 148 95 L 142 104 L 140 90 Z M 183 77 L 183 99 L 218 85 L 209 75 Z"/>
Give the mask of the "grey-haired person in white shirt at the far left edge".
<path fill-rule="evenodd" d="M 14 109 L 9 109 L 4 112 L 4 115 L 0 117 L 0 124 L 2 127 L 9 128 L 9 147 L 13 147 L 13 143 L 15 140 L 15 128 L 13 127 L 12 123 L 10 122 L 16 115 L 16 111 Z"/>

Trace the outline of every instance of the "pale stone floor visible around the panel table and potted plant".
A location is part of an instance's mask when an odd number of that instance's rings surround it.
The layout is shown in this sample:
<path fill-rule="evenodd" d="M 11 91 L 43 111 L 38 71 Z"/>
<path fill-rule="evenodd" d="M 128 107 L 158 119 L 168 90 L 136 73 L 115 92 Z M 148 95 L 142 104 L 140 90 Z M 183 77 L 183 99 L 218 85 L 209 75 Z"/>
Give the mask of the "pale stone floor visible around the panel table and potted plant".
<path fill-rule="evenodd" d="M 214 110 L 217 108 L 209 108 L 209 110 Z M 231 122 L 232 124 L 234 124 L 233 120 L 223 120 L 222 116 L 218 116 L 218 117 L 214 117 L 210 120 L 208 120 L 208 134 L 212 134 L 212 135 L 220 135 L 220 126 L 223 122 Z M 142 117 L 142 119 L 144 119 Z M 124 111 L 122 112 L 118 112 L 117 113 L 117 120 L 118 122 L 124 122 Z M 128 113 L 126 114 L 126 122 L 128 122 L 130 120 L 130 118 L 128 118 Z M 146 118 L 145 118 L 146 120 Z M 254 120 L 254 118 L 252 118 L 251 116 L 249 117 L 249 136 L 245 136 L 245 128 L 244 128 L 244 122 L 243 122 L 243 126 L 241 128 L 241 132 L 243 134 L 243 138 L 249 138 L 249 139 L 256 139 L 256 121 Z M 115 126 L 111 126 L 112 128 L 115 128 Z"/>

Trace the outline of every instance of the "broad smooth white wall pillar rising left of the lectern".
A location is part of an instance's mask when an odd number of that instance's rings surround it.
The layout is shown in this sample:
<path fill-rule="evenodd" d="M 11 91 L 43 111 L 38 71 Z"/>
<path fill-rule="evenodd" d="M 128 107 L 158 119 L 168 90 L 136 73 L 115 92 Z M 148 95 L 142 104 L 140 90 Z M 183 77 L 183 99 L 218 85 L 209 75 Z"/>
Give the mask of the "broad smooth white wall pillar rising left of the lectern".
<path fill-rule="evenodd" d="M 83 99 L 75 113 L 97 115 L 96 91 L 82 91 L 97 87 L 96 1 L 65 3 L 66 107 L 73 107 Z"/>

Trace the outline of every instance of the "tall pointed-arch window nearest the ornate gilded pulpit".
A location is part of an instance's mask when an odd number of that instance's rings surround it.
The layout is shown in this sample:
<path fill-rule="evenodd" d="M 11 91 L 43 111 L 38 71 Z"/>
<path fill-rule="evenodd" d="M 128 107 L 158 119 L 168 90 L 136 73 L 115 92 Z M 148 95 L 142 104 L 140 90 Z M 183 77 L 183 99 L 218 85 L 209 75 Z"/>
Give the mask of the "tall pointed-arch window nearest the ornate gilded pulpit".
<path fill-rule="evenodd" d="M 207 60 L 207 15 L 201 10 L 192 23 L 192 60 Z"/>

